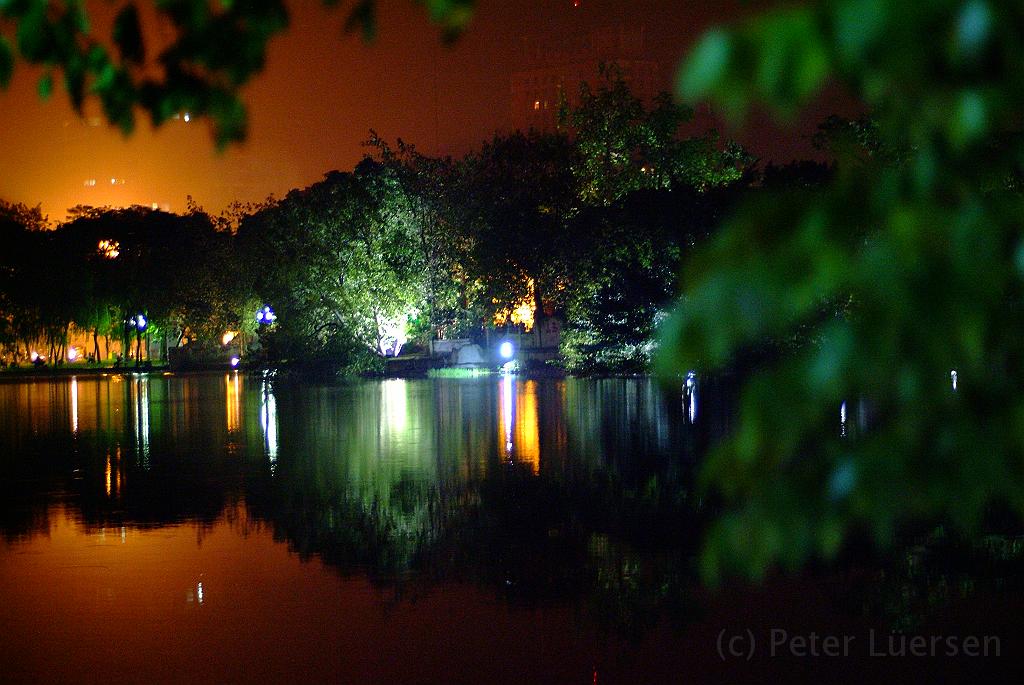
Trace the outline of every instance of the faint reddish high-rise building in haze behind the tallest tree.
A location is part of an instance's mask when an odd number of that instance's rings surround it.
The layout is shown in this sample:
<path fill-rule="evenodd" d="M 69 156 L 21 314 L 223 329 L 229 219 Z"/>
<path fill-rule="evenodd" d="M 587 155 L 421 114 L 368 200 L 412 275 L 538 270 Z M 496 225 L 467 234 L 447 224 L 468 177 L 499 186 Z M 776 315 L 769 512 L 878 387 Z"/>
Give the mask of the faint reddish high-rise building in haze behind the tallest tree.
<path fill-rule="evenodd" d="M 512 127 L 554 130 L 559 104 L 580 103 L 580 86 L 600 82 L 602 63 L 614 65 L 634 95 L 650 104 L 657 94 L 658 65 L 647 58 L 644 29 L 599 29 L 579 36 L 527 37 L 512 74 Z"/>

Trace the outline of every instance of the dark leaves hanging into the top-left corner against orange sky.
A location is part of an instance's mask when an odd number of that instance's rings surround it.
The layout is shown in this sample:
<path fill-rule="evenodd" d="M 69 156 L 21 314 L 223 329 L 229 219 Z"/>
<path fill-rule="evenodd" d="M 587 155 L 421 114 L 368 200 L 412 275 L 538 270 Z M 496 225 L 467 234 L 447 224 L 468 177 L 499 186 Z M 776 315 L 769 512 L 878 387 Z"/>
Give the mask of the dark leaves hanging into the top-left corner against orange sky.
<path fill-rule="evenodd" d="M 468 23 L 473 0 L 415 0 L 452 39 Z M 335 5 L 337 0 L 325 0 Z M 374 0 L 357 0 L 346 31 L 373 38 Z M 80 0 L 15 0 L 0 4 L 0 19 L 13 27 L 13 42 L 0 32 L 0 88 L 10 83 L 16 60 L 45 69 L 39 94 L 47 97 L 60 73 L 72 104 L 99 99 L 108 121 L 125 133 L 141 109 L 154 125 L 188 112 L 209 117 L 218 145 L 243 140 L 246 109 L 240 91 L 263 69 L 267 44 L 288 28 L 282 0 L 219 2 L 170 0 L 153 7 L 173 38 L 160 54 L 147 54 L 146 32 L 135 3 L 124 5 L 111 36 L 92 34 Z M 109 46 L 115 46 L 111 49 Z"/>

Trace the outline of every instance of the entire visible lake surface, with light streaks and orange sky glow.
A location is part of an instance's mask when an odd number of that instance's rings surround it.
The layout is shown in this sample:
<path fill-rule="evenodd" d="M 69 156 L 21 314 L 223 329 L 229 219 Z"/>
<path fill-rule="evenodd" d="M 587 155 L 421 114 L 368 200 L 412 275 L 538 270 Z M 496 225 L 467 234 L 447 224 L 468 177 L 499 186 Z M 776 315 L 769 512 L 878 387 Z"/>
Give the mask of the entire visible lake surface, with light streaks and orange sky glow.
<path fill-rule="evenodd" d="M 645 380 L 0 384 L 0 681 L 748 682 L 724 629 L 862 636 L 827 582 L 697 589 L 720 429 Z"/>

